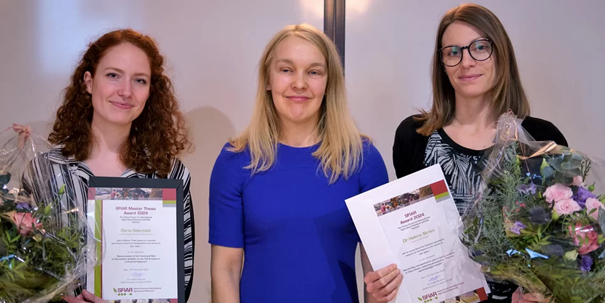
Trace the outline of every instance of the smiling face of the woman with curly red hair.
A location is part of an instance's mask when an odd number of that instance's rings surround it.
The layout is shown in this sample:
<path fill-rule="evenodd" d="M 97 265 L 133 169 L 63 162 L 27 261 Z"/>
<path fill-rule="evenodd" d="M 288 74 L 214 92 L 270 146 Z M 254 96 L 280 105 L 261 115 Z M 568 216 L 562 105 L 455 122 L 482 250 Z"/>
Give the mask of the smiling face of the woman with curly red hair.
<path fill-rule="evenodd" d="M 132 124 L 149 98 L 151 66 L 143 50 L 130 43 L 110 48 L 99 60 L 95 75 L 84 74 L 92 96 L 93 124 Z"/>

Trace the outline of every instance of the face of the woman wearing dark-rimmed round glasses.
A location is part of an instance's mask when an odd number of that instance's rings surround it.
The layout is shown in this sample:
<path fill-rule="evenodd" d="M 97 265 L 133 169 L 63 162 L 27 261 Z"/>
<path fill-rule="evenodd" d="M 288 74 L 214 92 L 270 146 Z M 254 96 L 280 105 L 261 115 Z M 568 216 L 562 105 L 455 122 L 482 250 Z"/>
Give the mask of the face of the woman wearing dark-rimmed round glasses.
<path fill-rule="evenodd" d="M 443 33 L 441 45 L 464 47 L 470 44 L 472 51 L 477 51 L 478 48 L 486 47 L 485 42 L 476 42 L 484 38 L 486 38 L 484 34 L 477 28 L 467 23 L 454 22 Z M 443 56 L 448 55 L 462 55 L 462 62 L 458 65 L 445 66 L 450 83 L 456 91 L 457 99 L 460 97 L 480 98 L 490 91 L 494 85 L 496 70 L 493 55 L 484 61 L 473 59 L 469 54 L 469 49 L 464 49 L 462 53 L 443 54 Z"/>

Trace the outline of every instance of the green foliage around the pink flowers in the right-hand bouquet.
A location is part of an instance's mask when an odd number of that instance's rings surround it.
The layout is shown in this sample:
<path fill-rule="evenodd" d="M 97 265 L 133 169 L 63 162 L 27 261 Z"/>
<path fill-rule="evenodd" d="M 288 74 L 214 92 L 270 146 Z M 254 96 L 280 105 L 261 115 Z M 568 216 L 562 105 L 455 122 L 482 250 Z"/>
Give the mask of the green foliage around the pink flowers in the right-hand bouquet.
<path fill-rule="evenodd" d="M 525 158 L 518 142 L 508 143 L 500 153 L 498 159 L 492 160 L 497 163 L 488 164 L 495 169 L 487 176 L 486 190 L 463 218 L 462 241 L 469 247 L 473 259 L 492 278 L 514 282 L 528 292 L 552 296 L 556 302 L 603 302 L 605 261 L 599 254 L 605 256 L 605 250 L 599 247 L 587 254 L 594 264 L 590 271 L 583 272 L 580 269 L 582 256 L 577 252 L 579 246 L 588 245 L 588 238 L 578 236 L 576 245 L 570 233 L 578 223 L 597 226 L 599 222 L 586 210 L 560 216 L 543 197 L 551 185 L 571 184 L 575 176 L 585 180 L 591 162 L 571 150 Z M 530 166 L 536 167 L 536 163 L 539 176 L 530 180 Z M 534 182 L 535 192 L 519 190 L 530 182 Z M 593 191 L 594 186 L 588 189 Z M 549 215 L 547 220 L 532 219 L 542 211 Z M 605 222 L 603 214 L 605 212 L 599 211 L 601 222 Z M 524 226 L 519 234 L 511 230 L 516 222 Z M 597 230 L 601 244 L 605 236 L 601 228 Z"/>

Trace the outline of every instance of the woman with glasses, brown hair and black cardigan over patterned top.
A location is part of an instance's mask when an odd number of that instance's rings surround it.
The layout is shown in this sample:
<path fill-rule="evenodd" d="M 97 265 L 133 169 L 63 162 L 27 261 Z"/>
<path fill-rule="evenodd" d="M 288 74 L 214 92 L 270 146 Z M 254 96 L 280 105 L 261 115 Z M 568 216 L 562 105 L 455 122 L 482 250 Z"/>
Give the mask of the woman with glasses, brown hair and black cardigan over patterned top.
<path fill-rule="evenodd" d="M 432 84 L 432 108 L 406 118 L 397 128 L 393 164 L 398 178 L 441 165 L 461 214 L 472 203 L 483 156 L 493 145 L 498 117 L 507 110 L 523 119 L 522 126 L 535 140 L 567 146 L 551 122 L 530 116 L 511 41 L 485 7 L 464 4 L 443 16 Z M 521 295 L 512 283 L 488 282 L 488 302 L 541 302 L 537 296 Z"/>

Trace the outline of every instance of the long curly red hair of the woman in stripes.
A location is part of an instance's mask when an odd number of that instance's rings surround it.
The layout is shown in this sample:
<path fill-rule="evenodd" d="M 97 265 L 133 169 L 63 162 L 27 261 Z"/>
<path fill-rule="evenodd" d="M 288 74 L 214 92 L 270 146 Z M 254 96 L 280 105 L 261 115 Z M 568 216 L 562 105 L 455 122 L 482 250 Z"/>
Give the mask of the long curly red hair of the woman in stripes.
<path fill-rule="evenodd" d="M 172 82 L 164 75 L 164 57 L 151 37 L 132 29 L 106 33 L 89 44 L 71 76 L 70 85 L 64 90 L 63 103 L 48 139 L 62 145 L 63 155 L 79 161 L 88 159 L 93 144 L 93 107 L 84 73 L 90 72 L 94 77 L 105 53 L 122 43 L 130 43 L 147 54 L 151 83 L 149 99 L 141 115 L 132 122 L 129 138 L 122 146 L 121 159 L 126 167 L 137 172 L 166 177 L 172 168 L 172 159 L 192 145 Z"/>

